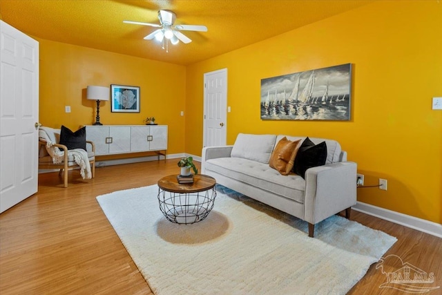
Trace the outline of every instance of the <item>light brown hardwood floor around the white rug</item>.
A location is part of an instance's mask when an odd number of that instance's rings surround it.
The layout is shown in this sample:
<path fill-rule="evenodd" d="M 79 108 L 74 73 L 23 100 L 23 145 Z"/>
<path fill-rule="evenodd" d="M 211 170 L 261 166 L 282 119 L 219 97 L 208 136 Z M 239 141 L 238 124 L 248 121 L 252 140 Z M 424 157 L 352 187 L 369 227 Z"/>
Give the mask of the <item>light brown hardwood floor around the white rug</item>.
<path fill-rule="evenodd" d="M 177 173 L 177 160 L 97 167 L 96 178 L 69 171 L 39 175 L 39 191 L 0 215 L 0 293 L 152 294 L 109 224 L 96 196 L 156 184 Z M 200 169 L 200 165 L 197 165 Z M 396 236 L 387 251 L 430 274 L 442 292 L 442 239 L 352 211 L 352 220 Z M 349 294 L 404 294 L 380 289 L 386 276 L 376 263 Z"/>

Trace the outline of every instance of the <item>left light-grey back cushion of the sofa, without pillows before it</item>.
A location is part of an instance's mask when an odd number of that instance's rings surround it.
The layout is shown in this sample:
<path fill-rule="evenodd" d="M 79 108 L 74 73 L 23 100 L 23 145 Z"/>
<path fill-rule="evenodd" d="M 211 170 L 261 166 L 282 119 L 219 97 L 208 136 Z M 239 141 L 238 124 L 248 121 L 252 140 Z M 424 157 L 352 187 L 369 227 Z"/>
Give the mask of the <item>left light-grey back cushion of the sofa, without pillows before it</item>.
<path fill-rule="evenodd" d="M 231 157 L 244 158 L 269 164 L 276 135 L 238 134 L 231 151 Z"/>

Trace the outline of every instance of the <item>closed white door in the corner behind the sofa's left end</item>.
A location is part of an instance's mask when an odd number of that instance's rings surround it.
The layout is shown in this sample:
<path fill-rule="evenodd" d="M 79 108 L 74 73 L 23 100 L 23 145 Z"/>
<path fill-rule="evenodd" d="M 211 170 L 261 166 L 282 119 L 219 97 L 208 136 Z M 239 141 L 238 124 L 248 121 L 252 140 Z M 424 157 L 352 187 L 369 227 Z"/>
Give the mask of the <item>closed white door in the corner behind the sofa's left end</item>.
<path fill-rule="evenodd" d="M 204 74 L 203 146 L 227 142 L 227 68 Z"/>

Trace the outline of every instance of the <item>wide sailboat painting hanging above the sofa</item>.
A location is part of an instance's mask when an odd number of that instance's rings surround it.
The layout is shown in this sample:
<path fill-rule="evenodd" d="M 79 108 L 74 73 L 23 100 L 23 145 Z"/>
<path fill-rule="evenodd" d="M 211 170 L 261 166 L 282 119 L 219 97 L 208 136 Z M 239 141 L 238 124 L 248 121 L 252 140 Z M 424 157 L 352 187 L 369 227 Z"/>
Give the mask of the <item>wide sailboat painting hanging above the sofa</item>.
<path fill-rule="evenodd" d="M 350 120 L 352 64 L 261 79 L 261 120 Z"/>

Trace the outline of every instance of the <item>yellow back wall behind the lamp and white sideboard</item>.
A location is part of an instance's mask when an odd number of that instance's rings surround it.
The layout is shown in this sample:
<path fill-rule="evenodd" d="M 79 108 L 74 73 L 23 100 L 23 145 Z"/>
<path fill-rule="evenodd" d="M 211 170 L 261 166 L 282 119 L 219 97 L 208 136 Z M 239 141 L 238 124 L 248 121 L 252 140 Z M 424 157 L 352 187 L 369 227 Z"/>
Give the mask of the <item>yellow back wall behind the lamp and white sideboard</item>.
<path fill-rule="evenodd" d="M 97 103 L 86 99 L 88 85 L 140 86 L 140 113 L 111 113 L 101 102 L 102 124 L 144 124 L 155 117 L 169 126 L 167 153 L 184 152 L 186 69 L 184 66 L 73 46 L 45 39 L 40 44 L 39 120 L 44 126 L 72 130 L 95 122 Z M 65 113 L 70 106 L 71 113 Z"/>

